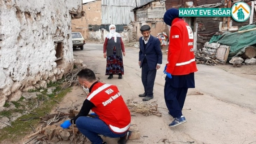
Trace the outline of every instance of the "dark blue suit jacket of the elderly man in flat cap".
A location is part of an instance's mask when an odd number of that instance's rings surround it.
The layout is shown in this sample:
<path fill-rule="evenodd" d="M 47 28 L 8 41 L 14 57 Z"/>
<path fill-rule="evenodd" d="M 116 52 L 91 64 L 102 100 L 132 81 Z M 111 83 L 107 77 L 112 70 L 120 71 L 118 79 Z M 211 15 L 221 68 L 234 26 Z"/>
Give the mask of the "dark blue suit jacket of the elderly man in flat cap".
<path fill-rule="evenodd" d="M 142 40 L 142 37 L 140 37 L 140 67 L 143 64 L 144 58 L 146 58 L 149 69 L 154 70 L 157 67 L 157 64 L 162 64 L 162 57 L 163 54 L 160 47 L 160 40 L 158 38 L 150 35 L 146 48 L 144 48 L 144 42 Z"/>

